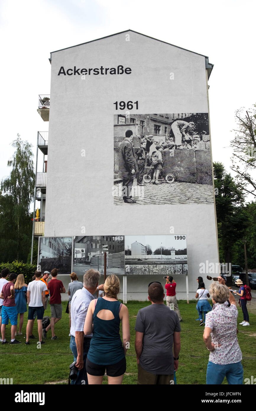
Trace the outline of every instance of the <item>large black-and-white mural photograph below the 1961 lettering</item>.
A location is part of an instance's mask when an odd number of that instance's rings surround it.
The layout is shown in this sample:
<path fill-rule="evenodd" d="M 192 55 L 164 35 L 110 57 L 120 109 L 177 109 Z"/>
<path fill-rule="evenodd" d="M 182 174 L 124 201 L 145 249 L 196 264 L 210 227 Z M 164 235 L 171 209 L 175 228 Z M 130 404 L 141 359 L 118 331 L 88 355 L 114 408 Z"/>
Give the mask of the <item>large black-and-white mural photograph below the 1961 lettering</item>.
<path fill-rule="evenodd" d="M 115 205 L 213 203 L 208 113 L 114 115 Z"/>

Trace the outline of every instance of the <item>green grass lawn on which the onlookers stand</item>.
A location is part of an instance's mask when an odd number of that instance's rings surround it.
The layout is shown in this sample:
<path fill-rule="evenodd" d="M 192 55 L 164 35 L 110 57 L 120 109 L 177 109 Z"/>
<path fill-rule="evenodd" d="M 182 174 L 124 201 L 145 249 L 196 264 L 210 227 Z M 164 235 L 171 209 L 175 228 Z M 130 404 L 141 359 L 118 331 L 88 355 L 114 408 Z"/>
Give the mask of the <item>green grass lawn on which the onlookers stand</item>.
<path fill-rule="evenodd" d="M 140 308 L 149 305 L 149 302 L 130 301 L 127 303 L 130 317 L 131 343 L 127 352 L 127 369 L 123 384 L 136 384 L 137 363 L 134 349 L 135 321 Z M 206 368 L 209 354 L 203 342 L 203 329 L 197 316 L 196 302 L 178 301 L 182 314 L 181 323 L 181 351 L 179 369 L 176 372 L 177 384 L 205 384 Z M 30 340 L 30 345 L 25 345 L 25 327 L 28 312 L 24 314 L 23 336 L 16 337 L 22 344 L 2 345 L 0 344 L 0 377 L 12 378 L 13 384 L 45 384 L 45 383 L 67 383 L 69 376 L 69 364 L 73 362 L 73 355 L 69 348 L 69 318 L 65 313 L 67 302 L 62 302 L 62 319 L 55 326 L 57 340 L 51 340 L 51 331 L 48 331 L 46 344 L 37 348 L 37 321 L 33 328 L 36 339 Z M 238 323 L 242 318 L 242 309 L 238 306 Z M 45 315 L 51 316 L 50 306 Z M 250 327 L 238 325 L 238 342 L 242 351 L 242 365 L 244 367 L 244 378 L 251 378 L 256 372 L 256 315 L 249 314 Z M 6 329 L 6 339 L 10 341 L 11 326 Z M 104 377 L 104 383 L 107 383 Z M 224 384 L 227 384 L 226 379 Z"/>

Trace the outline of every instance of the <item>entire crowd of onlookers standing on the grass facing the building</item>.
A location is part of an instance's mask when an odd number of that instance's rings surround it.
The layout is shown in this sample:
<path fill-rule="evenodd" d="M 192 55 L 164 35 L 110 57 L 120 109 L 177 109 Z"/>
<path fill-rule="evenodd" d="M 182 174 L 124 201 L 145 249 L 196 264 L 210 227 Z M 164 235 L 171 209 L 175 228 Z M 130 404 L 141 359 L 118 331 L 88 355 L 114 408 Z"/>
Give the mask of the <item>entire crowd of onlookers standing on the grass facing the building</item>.
<path fill-rule="evenodd" d="M 58 270 L 35 272 L 35 279 L 28 285 L 22 274 L 16 276 L 4 269 L 0 278 L 0 321 L 2 344 L 7 344 L 5 327 L 11 322 L 10 344 L 21 344 L 15 339 L 17 319 L 20 314 L 18 335 L 22 335 L 24 312 L 27 311 L 25 296 L 28 301 L 28 324 L 26 342 L 31 335 L 35 314 L 37 315 L 39 342 L 51 329 L 55 336 L 55 324 L 62 316 L 61 293 L 65 288 L 56 277 Z M 7 277 L 9 276 L 9 281 Z M 109 275 L 104 284 L 99 285 L 100 273 L 94 269 L 85 272 L 83 283 L 78 281 L 76 273 L 71 273 L 68 286 L 70 349 L 74 355 L 76 378 L 71 384 L 101 384 L 105 372 L 109 384 L 122 384 L 126 371 L 125 355 L 130 348 L 129 313 L 125 305 L 118 300 L 120 282 L 117 276 Z M 173 384 L 175 371 L 179 365 L 180 322 L 182 321 L 175 296 L 176 283 L 172 276 L 166 279 L 167 291 L 164 304 L 164 288 L 160 282 L 148 285 L 148 300 L 151 305 L 138 311 L 136 316 L 135 351 L 138 364 L 137 384 Z M 225 285 L 220 276 L 218 282 L 212 282 L 209 291 L 205 289 L 202 277 L 198 277 L 197 309 L 200 326 L 205 325 L 203 341 L 210 352 L 206 371 L 206 384 L 221 384 L 226 376 L 228 384 L 243 383 L 242 353 L 237 339 L 237 318 L 233 291 Z M 237 281 L 240 284 L 241 280 Z M 246 292 L 240 287 L 236 292 L 240 298 Z M 244 291 L 244 293 L 242 292 Z M 46 305 L 46 292 L 50 293 L 51 323 L 42 328 L 42 319 Z M 104 292 L 104 293 L 103 293 Z M 208 298 L 212 298 L 212 307 Z M 249 323 L 245 312 L 246 300 L 242 305 L 244 322 Z M 247 311 L 247 309 L 246 309 Z M 204 319 L 203 319 L 204 314 Z M 248 320 L 248 321 L 247 321 Z M 241 325 L 244 326 L 244 322 Z M 120 337 L 122 323 L 122 339 Z"/>

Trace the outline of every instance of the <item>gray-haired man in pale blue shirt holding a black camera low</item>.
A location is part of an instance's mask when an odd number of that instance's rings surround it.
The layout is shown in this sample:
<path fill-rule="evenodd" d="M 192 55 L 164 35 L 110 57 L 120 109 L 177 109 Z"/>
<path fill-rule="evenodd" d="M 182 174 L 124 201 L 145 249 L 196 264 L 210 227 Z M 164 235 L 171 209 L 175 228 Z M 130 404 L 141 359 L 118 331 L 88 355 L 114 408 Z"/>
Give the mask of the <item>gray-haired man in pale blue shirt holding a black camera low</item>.
<path fill-rule="evenodd" d="M 75 366 L 78 368 L 77 379 L 71 384 L 88 384 L 86 373 L 86 358 L 90 348 L 92 333 L 84 335 L 83 326 L 88 306 L 94 300 L 93 294 L 96 290 L 104 290 L 103 284 L 99 286 L 99 271 L 92 268 L 83 276 L 83 288 L 77 290 L 71 300 L 71 328 L 70 349 L 74 355 Z"/>

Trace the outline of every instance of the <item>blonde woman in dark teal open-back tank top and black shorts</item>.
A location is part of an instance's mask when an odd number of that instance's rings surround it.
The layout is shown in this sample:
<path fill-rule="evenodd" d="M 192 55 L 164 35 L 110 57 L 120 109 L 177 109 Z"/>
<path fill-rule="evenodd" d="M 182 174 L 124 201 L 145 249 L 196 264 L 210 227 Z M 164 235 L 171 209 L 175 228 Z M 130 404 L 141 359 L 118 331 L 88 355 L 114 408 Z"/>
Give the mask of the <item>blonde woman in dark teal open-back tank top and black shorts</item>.
<path fill-rule="evenodd" d="M 125 354 L 130 341 L 129 313 L 117 299 L 120 281 L 116 275 L 106 278 L 104 291 L 104 297 L 90 302 L 83 328 L 85 335 L 93 331 L 86 360 L 88 383 L 102 384 L 106 370 L 108 384 L 122 384 L 126 371 Z"/>

